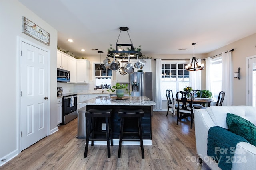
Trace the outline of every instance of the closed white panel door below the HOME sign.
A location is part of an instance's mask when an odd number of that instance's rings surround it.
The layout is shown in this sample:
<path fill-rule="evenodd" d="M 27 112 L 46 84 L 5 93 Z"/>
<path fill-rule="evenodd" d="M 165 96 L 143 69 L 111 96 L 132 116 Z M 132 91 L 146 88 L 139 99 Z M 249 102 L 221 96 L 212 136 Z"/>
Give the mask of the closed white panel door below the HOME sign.
<path fill-rule="evenodd" d="M 20 142 L 24 150 L 47 136 L 48 52 L 24 42 L 21 50 Z"/>

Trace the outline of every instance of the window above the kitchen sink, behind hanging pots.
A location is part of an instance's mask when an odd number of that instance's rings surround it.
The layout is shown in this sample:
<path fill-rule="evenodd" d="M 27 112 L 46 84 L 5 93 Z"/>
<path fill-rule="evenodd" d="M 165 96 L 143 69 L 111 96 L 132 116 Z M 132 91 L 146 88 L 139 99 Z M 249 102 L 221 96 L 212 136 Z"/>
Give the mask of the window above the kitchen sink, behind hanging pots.
<path fill-rule="evenodd" d="M 98 68 L 103 68 L 100 70 Z M 107 70 L 104 64 L 94 64 L 95 70 L 95 88 L 97 89 L 110 89 L 112 70 Z"/>

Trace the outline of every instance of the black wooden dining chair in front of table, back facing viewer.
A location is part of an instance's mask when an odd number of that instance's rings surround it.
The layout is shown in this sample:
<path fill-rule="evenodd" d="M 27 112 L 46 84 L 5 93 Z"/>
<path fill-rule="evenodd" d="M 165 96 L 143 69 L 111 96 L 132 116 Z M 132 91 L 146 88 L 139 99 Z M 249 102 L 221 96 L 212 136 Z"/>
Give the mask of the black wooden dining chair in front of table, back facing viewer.
<path fill-rule="evenodd" d="M 188 100 L 187 96 L 191 96 L 190 100 Z M 191 117 L 191 125 L 190 128 L 193 127 L 193 119 L 194 119 L 194 108 L 193 108 L 193 96 L 190 92 L 180 91 L 176 94 L 178 106 L 177 110 L 177 125 L 179 120 L 184 119 L 186 117 Z"/>

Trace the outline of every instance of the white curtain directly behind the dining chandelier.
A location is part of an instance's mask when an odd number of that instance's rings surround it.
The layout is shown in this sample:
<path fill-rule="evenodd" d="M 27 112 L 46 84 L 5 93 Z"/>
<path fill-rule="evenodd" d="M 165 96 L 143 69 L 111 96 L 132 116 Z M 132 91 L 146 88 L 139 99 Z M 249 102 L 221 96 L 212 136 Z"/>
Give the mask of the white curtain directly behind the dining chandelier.
<path fill-rule="evenodd" d="M 189 63 L 191 63 L 192 59 L 190 59 Z M 201 64 L 201 59 L 196 59 L 198 65 Z M 189 79 L 190 79 L 190 87 L 194 90 L 201 90 L 201 71 L 190 71 L 189 72 Z"/>

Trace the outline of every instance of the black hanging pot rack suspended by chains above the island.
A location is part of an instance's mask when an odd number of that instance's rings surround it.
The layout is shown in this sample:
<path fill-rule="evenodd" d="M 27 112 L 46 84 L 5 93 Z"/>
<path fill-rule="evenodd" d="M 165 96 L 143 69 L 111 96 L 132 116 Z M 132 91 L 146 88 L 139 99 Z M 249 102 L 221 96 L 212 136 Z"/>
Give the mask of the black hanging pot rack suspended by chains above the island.
<path fill-rule="evenodd" d="M 116 41 L 116 49 L 112 50 L 112 51 L 108 51 L 107 56 L 112 57 L 112 58 L 115 56 L 116 58 L 123 58 L 123 59 L 125 57 L 128 58 L 129 55 L 130 55 L 131 59 L 141 57 L 142 53 L 140 52 L 140 49 L 136 48 L 136 50 L 137 50 L 136 51 L 133 47 L 132 40 L 131 40 L 129 32 L 128 32 L 129 28 L 128 27 L 120 27 L 119 29 L 120 29 L 120 32 L 119 32 L 119 35 L 118 35 L 118 38 Z M 120 37 L 121 31 L 127 31 L 130 42 L 131 42 L 130 44 L 118 44 L 118 39 Z M 127 46 L 127 50 L 122 49 L 122 46 Z"/>

